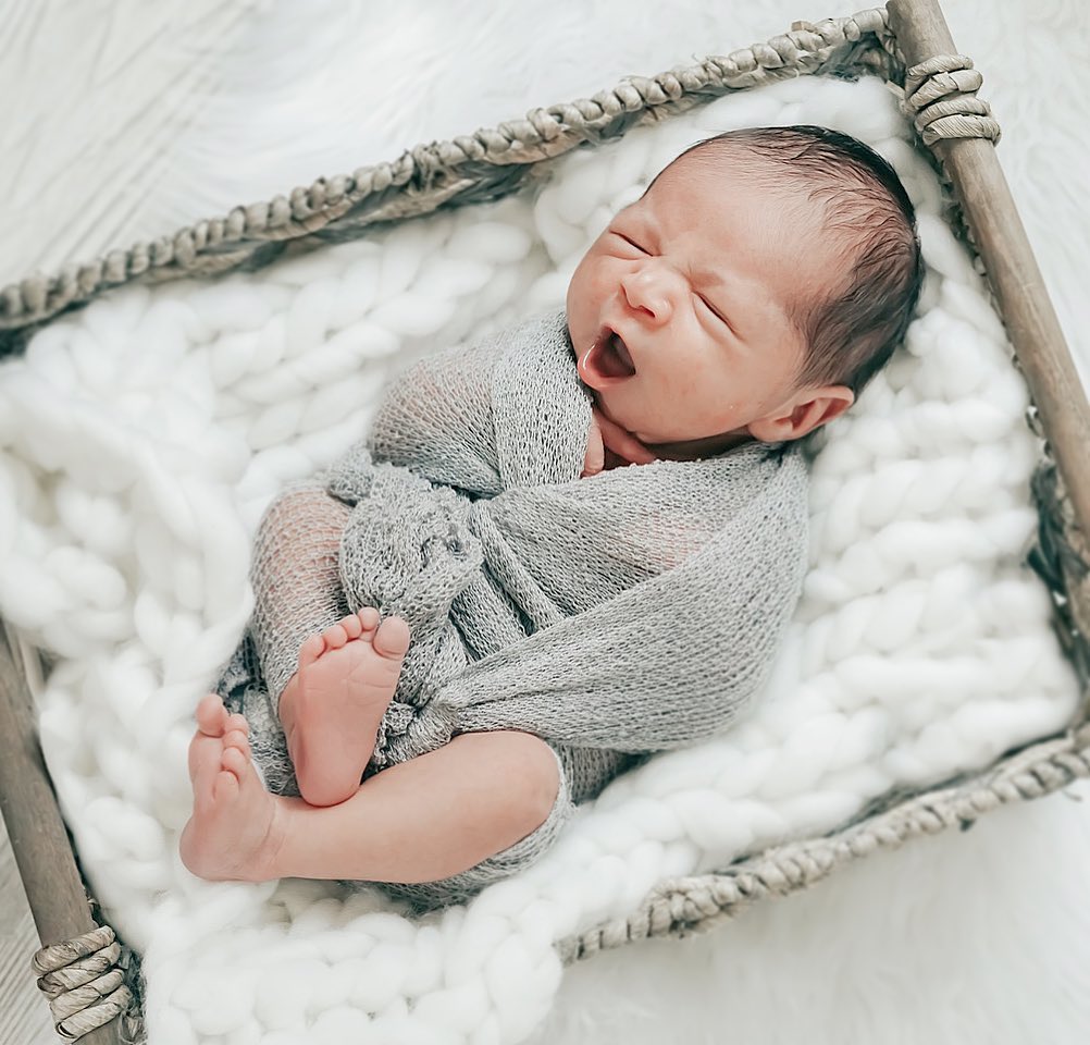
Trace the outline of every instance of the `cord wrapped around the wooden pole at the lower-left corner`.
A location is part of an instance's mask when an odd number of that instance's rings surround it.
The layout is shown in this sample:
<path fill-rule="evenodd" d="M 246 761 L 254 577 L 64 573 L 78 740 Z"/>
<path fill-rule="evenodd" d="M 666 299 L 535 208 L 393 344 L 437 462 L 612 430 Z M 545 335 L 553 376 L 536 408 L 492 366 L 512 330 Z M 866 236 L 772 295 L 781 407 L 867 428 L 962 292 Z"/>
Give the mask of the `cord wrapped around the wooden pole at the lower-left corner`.
<path fill-rule="evenodd" d="M 74 1042 L 123 1014 L 132 1001 L 117 966 L 121 945 L 108 925 L 43 947 L 31 961 L 57 1033 Z"/>

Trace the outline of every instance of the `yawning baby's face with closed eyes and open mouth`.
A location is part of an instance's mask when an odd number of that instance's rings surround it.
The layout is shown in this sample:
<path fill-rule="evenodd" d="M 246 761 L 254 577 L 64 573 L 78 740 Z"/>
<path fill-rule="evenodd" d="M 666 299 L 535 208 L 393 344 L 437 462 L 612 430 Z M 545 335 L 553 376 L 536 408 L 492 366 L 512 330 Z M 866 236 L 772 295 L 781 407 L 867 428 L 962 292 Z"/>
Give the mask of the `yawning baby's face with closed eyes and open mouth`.
<path fill-rule="evenodd" d="M 752 173 L 667 168 L 568 286 L 579 375 L 603 412 L 651 446 L 767 437 L 760 419 L 799 393 L 788 310 L 836 279 L 821 228 L 820 205 L 785 203 Z"/>

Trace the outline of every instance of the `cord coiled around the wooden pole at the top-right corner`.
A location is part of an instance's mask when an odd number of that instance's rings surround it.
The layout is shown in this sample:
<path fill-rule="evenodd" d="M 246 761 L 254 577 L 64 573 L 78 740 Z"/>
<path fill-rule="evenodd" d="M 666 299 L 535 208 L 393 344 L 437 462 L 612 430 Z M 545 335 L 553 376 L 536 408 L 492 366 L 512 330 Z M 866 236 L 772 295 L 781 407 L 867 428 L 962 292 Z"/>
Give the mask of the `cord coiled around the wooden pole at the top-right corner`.
<path fill-rule="evenodd" d="M 1000 124 L 977 97 L 983 82 L 965 55 L 937 55 L 905 73 L 905 111 L 924 145 L 949 137 L 998 142 Z"/>

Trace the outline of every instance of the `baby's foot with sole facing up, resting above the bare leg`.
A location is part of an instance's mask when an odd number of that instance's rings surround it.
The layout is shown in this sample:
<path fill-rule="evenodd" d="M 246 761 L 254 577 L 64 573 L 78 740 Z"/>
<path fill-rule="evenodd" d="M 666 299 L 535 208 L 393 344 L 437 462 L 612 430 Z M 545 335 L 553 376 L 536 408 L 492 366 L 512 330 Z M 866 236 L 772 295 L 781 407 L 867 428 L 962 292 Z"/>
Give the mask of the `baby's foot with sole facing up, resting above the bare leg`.
<path fill-rule="evenodd" d="M 280 721 L 299 792 L 337 805 L 360 789 L 401 674 L 409 625 L 366 609 L 312 635 L 280 696 Z"/>

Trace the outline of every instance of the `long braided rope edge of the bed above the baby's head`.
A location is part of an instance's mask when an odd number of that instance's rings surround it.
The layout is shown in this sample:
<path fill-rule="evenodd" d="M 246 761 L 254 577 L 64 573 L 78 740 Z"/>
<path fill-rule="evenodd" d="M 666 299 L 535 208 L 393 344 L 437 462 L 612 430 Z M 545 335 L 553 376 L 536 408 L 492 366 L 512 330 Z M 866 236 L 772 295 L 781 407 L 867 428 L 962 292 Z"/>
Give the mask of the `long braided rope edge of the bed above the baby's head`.
<path fill-rule="evenodd" d="M 419 145 L 392 163 L 319 178 L 307 189 L 235 207 L 225 218 L 198 221 L 87 264 L 66 265 L 53 276 L 31 275 L 0 291 L 0 353 L 20 343 L 19 332 L 112 287 L 258 267 L 279 255 L 288 241 L 355 238 L 378 221 L 452 202 L 494 199 L 518 188 L 540 160 L 731 91 L 831 70 L 893 75 L 884 9 L 796 25 L 726 57 L 657 76 L 628 77 L 589 99 L 532 109 L 521 120 Z"/>

